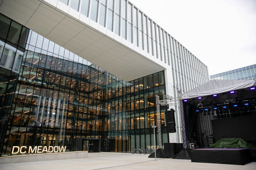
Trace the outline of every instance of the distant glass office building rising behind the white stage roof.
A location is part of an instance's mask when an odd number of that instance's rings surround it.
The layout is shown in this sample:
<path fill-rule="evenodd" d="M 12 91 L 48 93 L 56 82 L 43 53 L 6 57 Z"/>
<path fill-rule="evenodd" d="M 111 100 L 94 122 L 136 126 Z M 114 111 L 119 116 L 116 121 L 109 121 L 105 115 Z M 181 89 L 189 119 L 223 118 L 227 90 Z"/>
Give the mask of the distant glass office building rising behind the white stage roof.
<path fill-rule="evenodd" d="M 256 64 L 249 65 L 246 67 L 214 74 L 211 76 L 211 80 L 224 79 L 224 80 L 256 80 Z"/>

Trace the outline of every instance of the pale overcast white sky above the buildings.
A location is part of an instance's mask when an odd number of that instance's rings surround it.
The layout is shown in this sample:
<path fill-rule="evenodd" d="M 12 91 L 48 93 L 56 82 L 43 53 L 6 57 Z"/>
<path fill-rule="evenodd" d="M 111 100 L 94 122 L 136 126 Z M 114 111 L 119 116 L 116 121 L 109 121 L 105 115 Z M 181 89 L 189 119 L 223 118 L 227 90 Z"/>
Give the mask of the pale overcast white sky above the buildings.
<path fill-rule="evenodd" d="M 208 67 L 256 64 L 256 0 L 129 0 Z"/>

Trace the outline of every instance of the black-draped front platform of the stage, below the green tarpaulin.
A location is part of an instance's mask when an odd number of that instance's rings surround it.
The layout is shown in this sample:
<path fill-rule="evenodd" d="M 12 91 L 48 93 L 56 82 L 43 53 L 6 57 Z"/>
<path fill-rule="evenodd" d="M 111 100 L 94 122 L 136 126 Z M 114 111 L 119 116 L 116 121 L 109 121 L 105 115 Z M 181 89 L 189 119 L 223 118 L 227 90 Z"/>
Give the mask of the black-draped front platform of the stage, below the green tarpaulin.
<path fill-rule="evenodd" d="M 252 152 L 250 152 L 250 149 L 236 148 L 207 148 L 190 150 L 192 162 L 222 163 L 234 165 L 245 165 L 252 162 L 251 153 Z"/>

